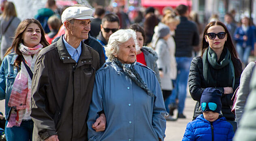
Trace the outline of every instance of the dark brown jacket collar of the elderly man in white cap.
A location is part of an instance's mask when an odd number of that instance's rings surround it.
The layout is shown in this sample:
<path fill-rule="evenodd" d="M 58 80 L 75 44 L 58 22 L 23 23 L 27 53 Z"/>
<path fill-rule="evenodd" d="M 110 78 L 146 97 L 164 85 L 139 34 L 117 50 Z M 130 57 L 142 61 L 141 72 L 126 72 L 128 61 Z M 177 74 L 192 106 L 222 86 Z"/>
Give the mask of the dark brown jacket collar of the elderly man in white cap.
<path fill-rule="evenodd" d="M 60 56 L 60 60 L 63 60 L 63 63 L 75 63 L 75 60 L 73 60 L 71 58 L 69 52 L 67 51 L 67 48 L 65 47 L 65 44 L 63 42 L 62 37 L 63 37 L 63 35 L 57 41 L 57 49 L 58 49 L 58 53 L 59 53 L 59 56 Z M 81 44 L 81 47 L 82 47 L 82 52 L 81 52 L 81 55 L 79 57 L 78 63 L 82 62 L 84 64 L 84 60 L 90 60 L 90 62 L 88 61 L 88 64 L 91 64 L 93 57 L 90 54 L 90 51 L 88 49 L 90 47 L 88 47 L 83 42 Z"/>

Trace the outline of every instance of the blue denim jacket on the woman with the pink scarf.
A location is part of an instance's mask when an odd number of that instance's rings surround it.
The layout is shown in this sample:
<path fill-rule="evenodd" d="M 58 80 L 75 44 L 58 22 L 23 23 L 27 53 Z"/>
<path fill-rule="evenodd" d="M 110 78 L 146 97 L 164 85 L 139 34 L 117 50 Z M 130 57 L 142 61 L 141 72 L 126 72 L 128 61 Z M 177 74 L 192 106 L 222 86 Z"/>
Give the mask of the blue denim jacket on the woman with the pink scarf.
<path fill-rule="evenodd" d="M 14 67 L 14 61 L 18 57 L 17 54 L 11 53 L 4 57 L 0 67 L 0 100 L 5 99 L 5 118 L 9 118 L 11 107 L 8 102 L 13 89 L 13 82 L 18 73 L 17 67 Z"/>

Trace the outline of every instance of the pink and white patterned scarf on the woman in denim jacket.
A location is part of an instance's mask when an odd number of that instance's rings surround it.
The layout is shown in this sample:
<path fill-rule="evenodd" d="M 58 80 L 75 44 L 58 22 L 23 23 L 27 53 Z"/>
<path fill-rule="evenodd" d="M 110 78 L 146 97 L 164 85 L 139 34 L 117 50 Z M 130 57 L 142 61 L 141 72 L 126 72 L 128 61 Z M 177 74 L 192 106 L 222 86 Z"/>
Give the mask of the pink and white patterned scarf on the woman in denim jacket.
<path fill-rule="evenodd" d="M 25 59 L 26 64 L 34 71 L 34 64 L 37 59 L 37 54 L 43 48 L 43 45 L 38 44 L 34 48 L 28 48 L 22 43 L 19 44 L 19 51 Z M 31 57 L 33 55 L 33 58 Z M 11 107 L 10 118 L 7 127 L 20 126 L 22 120 L 30 120 L 30 103 L 31 103 L 31 84 L 32 80 L 23 62 L 21 69 L 17 74 L 13 89 L 11 91 L 8 106 Z"/>

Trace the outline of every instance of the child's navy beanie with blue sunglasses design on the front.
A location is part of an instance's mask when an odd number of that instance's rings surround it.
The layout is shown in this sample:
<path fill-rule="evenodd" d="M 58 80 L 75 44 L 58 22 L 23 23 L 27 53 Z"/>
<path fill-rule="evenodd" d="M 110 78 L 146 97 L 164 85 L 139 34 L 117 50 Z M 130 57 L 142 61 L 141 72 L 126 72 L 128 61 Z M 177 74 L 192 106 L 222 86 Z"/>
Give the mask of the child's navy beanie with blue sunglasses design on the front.
<path fill-rule="evenodd" d="M 222 110 L 221 96 L 222 94 L 218 89 L 204 89 L 200 100 L 202 112 L 211 111 L 220 113 Z"/>

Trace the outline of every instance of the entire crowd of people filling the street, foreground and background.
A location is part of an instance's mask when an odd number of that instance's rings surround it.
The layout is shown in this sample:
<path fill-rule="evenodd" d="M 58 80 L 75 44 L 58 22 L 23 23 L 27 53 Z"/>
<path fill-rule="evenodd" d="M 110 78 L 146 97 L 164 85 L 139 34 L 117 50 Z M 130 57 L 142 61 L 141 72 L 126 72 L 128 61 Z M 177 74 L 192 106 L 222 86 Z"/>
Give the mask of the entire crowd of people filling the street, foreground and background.
<path fill-rule="evenodd" d="M 47 0 L 21 21 L 13 2 L 0 5 L 7 141 L 163 141 L 166 120 L 187 118 L 187 85 L 196 105 L 183 141 L 244 140 L 256 130 L 249 17 L 226 13 L 222 23 L 215 14 L 204 27 L 183 4 L 130 20 L 122 6 L 60 10 Z"/>

